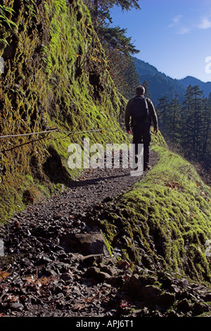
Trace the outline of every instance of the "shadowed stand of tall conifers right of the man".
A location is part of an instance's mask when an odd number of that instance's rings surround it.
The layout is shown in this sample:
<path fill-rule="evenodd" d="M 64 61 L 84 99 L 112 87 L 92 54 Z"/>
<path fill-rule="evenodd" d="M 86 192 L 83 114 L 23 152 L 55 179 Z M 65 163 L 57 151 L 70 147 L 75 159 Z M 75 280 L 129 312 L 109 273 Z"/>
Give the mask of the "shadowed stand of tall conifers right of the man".
<path fill-rule="evenodd" d="M 189 85 L 181 104 L 177 96 L 158 99 L 160 128 L 170 145 L 205 168 L 211 165 L 211 93 L 205 98 L 198 86 Z"/>

